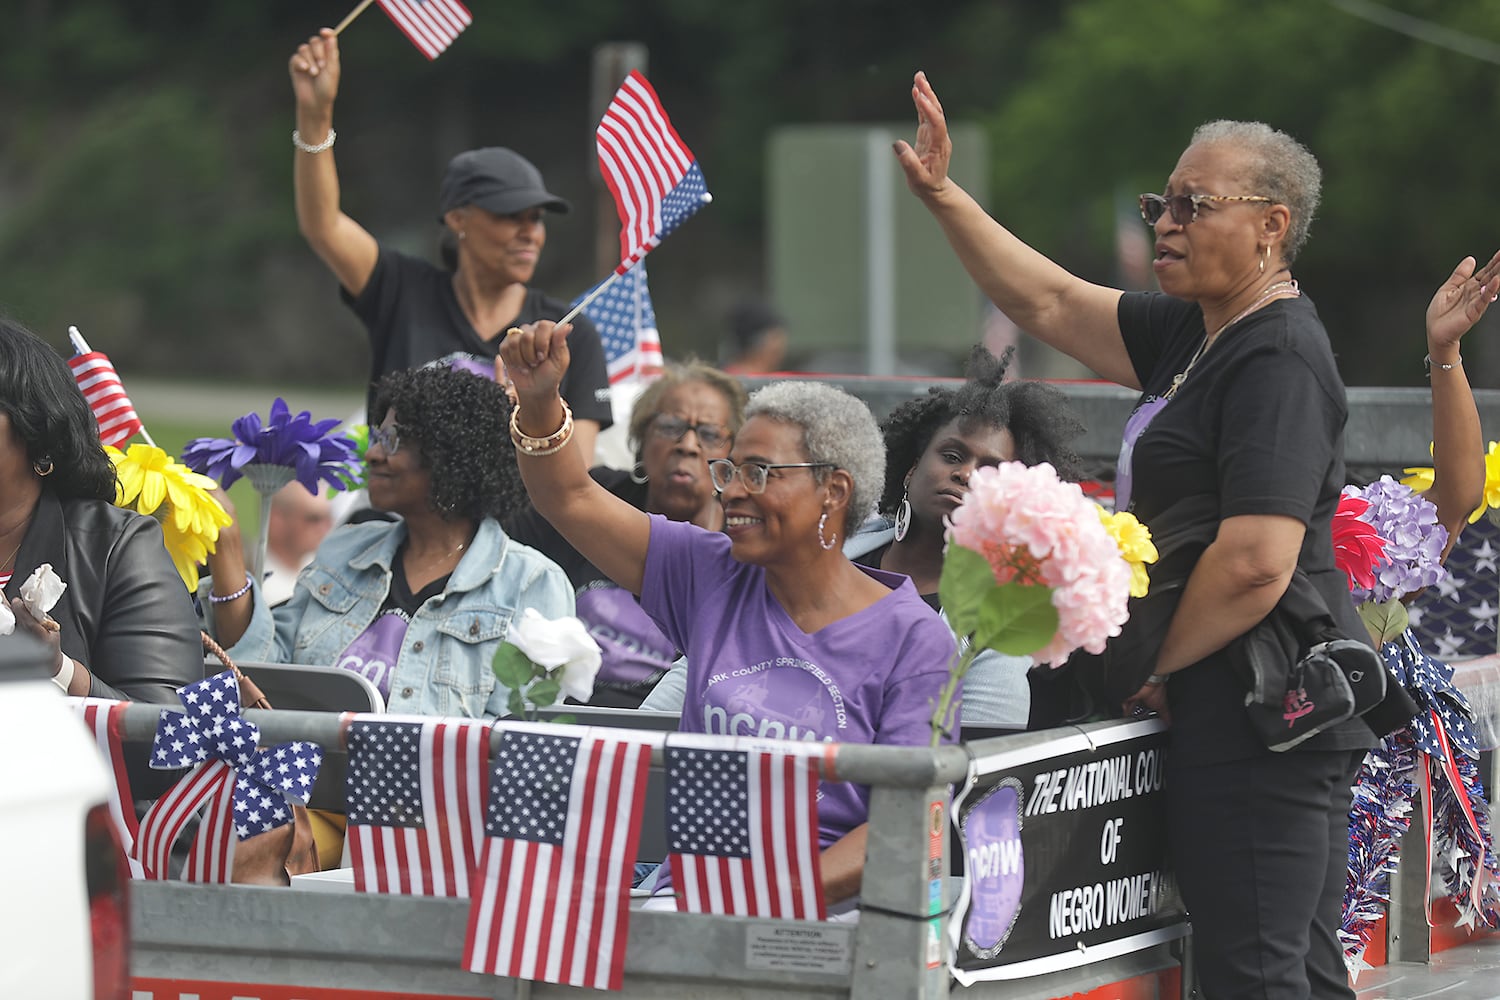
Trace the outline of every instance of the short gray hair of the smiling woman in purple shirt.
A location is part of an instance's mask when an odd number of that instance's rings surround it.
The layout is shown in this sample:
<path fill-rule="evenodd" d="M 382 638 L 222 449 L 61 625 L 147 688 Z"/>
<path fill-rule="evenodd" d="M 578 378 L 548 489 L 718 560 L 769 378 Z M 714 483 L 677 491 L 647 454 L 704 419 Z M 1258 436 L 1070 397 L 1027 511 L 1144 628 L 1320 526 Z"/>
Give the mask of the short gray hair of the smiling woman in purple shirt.
<path fill-rule="evenodd" d="M 746 420 L 750 417 L 795 424 L 808 462 L 828 462 L 849 474 L 854 493 L 844 511 L 844 537 L 852 535 L 885 486 L 885 439 L 864 400 L 826 382 L 771 382 L 750 393 Z M 819 483 L 828 478 L 826 469 L 814 472 Z"/>

